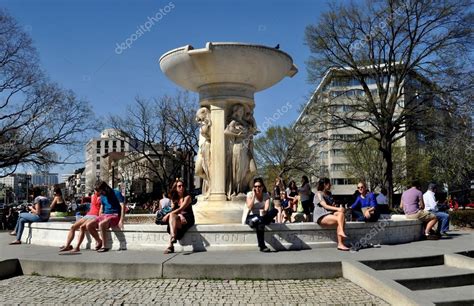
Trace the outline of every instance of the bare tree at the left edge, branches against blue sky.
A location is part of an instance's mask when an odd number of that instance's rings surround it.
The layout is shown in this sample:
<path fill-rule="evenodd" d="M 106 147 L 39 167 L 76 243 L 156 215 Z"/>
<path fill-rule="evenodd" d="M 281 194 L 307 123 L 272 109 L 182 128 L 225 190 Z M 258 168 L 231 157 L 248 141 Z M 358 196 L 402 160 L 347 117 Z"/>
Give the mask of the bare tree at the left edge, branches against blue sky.
<path fill-rule="evenodd" d="M 0 177 L 21 164 L 69 162 L 93 128 L 92 115 L 85 101 L 47 79 L 30 37 L 0 10 Z"/>

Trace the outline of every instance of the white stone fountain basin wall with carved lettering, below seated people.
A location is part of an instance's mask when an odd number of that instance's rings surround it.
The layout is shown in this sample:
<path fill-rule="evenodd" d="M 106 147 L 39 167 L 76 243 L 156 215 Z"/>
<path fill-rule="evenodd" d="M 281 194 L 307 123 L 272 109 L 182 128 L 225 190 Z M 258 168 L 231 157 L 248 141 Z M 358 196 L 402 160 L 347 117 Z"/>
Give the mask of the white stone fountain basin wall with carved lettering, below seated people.
<path fill-rule="evenodd" d="M 25 229 L 27 243 L 55 246 L 63 245 L 72 222 L 32 223 Z M 349 222 L 347 243 L 399 244 L 419 240 L 421 222 L 417 220 L 382 220 L 374 223 Z M 154 224 L 125 224 L 125 230 L 110 231 L 110 244 L 114 249 L 164 250 L 169 235 L 166 226 Z M 266 227 L 266 243 L 274 250 L 302 250 L 336 246 L 336 231 L 315 223 L 271 224 Z M 88 237 L 82 248 L 93 245 Z M 195 225 L 176 245 L 177 251 L 254 250 L 257 246 L 255 231 L 247 225 Z"/>

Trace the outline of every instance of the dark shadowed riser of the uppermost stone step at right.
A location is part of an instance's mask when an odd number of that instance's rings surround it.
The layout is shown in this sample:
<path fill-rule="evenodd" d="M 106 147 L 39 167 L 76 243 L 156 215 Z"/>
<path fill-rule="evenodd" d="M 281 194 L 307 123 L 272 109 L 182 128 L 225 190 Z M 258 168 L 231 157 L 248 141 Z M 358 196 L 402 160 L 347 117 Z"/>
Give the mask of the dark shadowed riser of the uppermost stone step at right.
<path fill-rule="evenodd" d="M 371 267 L 374 270 L 381 271 L 381 270 L 439 266 L 439 265 L 444 264 L 444 257 L 443 255 L 435 255 L 435 256 L 422 256 L 422 257 L 411 257 L 411 258 L 365 260 L 361 262 Z"/>

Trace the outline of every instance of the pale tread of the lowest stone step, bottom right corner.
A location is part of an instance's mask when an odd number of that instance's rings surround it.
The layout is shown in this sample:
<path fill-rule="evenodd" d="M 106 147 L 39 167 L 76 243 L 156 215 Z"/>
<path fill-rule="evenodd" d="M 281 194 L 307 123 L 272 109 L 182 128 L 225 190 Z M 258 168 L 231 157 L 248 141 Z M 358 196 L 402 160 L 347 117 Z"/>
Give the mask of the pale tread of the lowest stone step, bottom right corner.
<path fill-rule="evenodd" d="M 474 285 L 420 290 L 416 293 L 435 305 L 474 305 Z"/>

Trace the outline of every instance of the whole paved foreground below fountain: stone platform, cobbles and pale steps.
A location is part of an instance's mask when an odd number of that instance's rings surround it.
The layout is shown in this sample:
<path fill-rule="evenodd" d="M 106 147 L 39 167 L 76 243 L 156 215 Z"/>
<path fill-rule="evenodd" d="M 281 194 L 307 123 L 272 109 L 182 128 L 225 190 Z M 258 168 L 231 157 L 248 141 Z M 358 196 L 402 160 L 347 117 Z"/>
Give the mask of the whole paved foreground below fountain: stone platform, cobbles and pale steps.
<path fill-rule="evenodd" d="M 0 276 L 2 273 L 14 274 L 12 267 L 15 262 L 16 268 L 21 267 L 22 270 L 17 270 L 18 274 L 41 275 L 1 281 L 0 303 L 34 302 L 27 299 L 20 289 L 35 287 L 37 280 L 53 284 L 51 287 L 38 286 L 42 290 L 73 290 L 72 296 L 76 299 L 83 297 L 80 303 L 93 304 L 107 301 L 158 303 L 160 300 L 165 304 L 175 304 L 181 294 L 185 294 L 185 300 L 193 304 L 196 301 L 203 304 L 252 304 L 253 301 L 254 304 L 279 301 L 283 304 L 379 304 L 384 301 L 398 305 L 445 305 L 455 301 L 473 304 L 474 232 L 452 233 L 449 238 L 439 241 L 382 245 L 381 248 L 358 252 L 321 248 L 260 253 L 255 248 L 255 251 L 170 255 L 158 251 L 110 251 L 100 254 L 90 250 L 78 255 L 59 255 L 57 249 L 52 247 L 28 244 L 9 246 L 11 237 L 0 233 Z M 110 280 L 78 281 L 77 278 Z M 143 280 L 148 278 L 153 280 Z M 55 282 L 63 285 L 56 286 Z M 118 287 L 118 293 L 129 294 L 115 296 L 102 287 L 104 284 Z M 18 287 L 20 289 L 15 289 Z M 88 299 L 88 291 L 96 287 L 103 288 L 99 292 L 106 291 L 105 297 L 93 291 L 94 298 Z M 149 293 L 145 294 L 143 290 Z M 5 291 L 16 294 L 7 295 Z M 167 293 L 163 295 L 162 291 Z M 259 297 L 262 294 L 266 298 Z M 58 295 L 61 294 L 57 291 L 47 291 L 41 301 L 59 303 L 59 300 L 52 298 Z M 279 295 L 282 296 L 280 300 L 268 298 Z M 249 296 L 253 296 L 254 300 Z M 73 298 L 61 301 L 74 302 Z"/>

